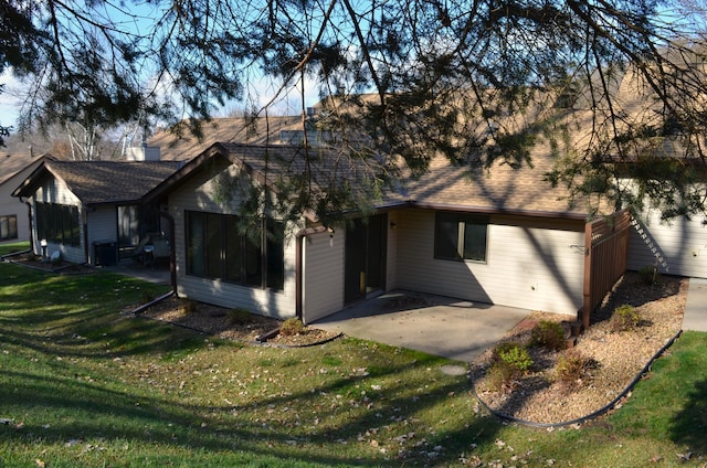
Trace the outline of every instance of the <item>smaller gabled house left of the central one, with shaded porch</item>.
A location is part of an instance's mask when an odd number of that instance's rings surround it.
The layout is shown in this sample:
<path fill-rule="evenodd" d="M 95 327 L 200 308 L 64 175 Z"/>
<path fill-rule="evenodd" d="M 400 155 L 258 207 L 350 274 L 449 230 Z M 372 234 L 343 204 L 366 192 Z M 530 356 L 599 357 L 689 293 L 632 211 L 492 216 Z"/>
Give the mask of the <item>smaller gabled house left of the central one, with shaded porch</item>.
<path fill-rule="evenodd" d="M 180 164 L 44 160 L 12 195 L 31 206 L 36 255 L 59 252 L 72 263 L 115 264 L 133 256 L 148 233 L 161 231 L 159 206 L 141 205 L 140 199 Z"/>

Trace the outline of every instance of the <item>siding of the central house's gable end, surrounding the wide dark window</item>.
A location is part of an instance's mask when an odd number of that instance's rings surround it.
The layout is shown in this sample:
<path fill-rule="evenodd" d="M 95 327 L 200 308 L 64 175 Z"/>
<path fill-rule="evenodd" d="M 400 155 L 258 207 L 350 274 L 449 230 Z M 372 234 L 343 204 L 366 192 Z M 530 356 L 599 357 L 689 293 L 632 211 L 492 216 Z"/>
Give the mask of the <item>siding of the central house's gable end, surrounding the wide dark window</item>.
<path fill-rule="evenodd" d="M 244 308 L 267 317 L 286 319 L 295 317 L 295 254 L 296 242 L 285 240 L 285 284 L 284 290 L 272 290 L 234 285 L 222 280 L 199 278 L 187 275 L 187 256 L 184 238 L 184 211 L 203 211 L 211 213 L 238 214 L 238 198 L 231 206 L 224 208 L 214 200 L 213 178 L 225 170 L 223 167 L 214 171 L 204 171 L 169 195 L 169 212 L 175 219 L 175 254 L 177 260 L 177 284 L 180 297 L 188 297 L 202 302 L 226 308 Z M 231 177 L 235 168 L 231 167 Z"/>

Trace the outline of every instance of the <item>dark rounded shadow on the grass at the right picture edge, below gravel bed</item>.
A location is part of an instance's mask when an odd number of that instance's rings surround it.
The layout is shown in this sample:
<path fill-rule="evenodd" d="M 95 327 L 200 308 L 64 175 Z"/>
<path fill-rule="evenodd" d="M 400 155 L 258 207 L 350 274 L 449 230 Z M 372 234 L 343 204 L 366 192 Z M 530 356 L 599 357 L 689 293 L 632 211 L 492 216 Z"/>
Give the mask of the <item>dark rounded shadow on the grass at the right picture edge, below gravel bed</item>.
<path fill-rule="evenodd" d="M 669 425 L 671 440 L 685 444 L 693 455 L 707 455 L 707 380 L 697 381 L 683 410 Z"/>

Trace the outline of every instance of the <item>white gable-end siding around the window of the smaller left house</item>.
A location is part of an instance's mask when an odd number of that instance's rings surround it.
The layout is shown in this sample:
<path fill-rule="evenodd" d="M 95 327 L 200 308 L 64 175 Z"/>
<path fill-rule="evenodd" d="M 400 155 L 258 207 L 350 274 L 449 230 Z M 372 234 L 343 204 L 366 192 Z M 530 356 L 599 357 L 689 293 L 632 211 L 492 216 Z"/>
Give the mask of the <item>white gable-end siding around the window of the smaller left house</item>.
<path fill-rule="evenodd" d="M 57 181 L 54 178 L 48 178 L 44 181 L 44 183 L 34 193 L 34 196 L 32 198 L 33 205 L 35 201 L 43 202 L 43 203 L 59 203 L 64 205 L 78 206 L 78 220 L 80 220 L 78 224 L 81 225 L 81 245 L 74 247 L 71 245 L 56 244 L 56 243 L 50 242 L 46 246 L 46 253 L 49 256 L 51 256 L 54 252 L 59 251 L 61 252 L 62 259 L 66 262 L 77 263 L 77 264 L 87 262 L 86 248 L 84 244 L 84 226 L 81 223 L 83 208 L 81 205 L 81 201 L 78 200 L 78 198 L 76 198 L 76 195 L 74 195 L 74 193 L 71 190 L 68 190 L 66 184 L 64 184 L 63 182 Z M 32 223 L 36 226 L 35 210 L 32 210 Z M 40 241 L 41 240 L 39 238 L 34 240 L 34 253 L 38 255 L 41 254 Z"/>

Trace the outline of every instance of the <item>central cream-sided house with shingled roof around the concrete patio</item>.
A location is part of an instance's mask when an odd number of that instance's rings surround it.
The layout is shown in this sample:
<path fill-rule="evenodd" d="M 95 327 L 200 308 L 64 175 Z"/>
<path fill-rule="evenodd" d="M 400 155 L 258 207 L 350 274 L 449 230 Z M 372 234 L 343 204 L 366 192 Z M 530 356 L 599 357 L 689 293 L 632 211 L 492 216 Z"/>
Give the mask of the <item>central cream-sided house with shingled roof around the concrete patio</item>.
<path fill-rule="evenodd" d="M 305 322 L 395 288 L 550 312 L 582 306 L 589 209 L 548 190 L 541 161 L 471 180 L 433 160 L 366 220 L 323 226 L 303 216 L 282 242 L 240 235 L 238 191 L 219 200 L 219 181 L 262 182 L 265 153 L 297 151 L 215 143 L 146 195 L 175 220 L 180 296 Z"/>

